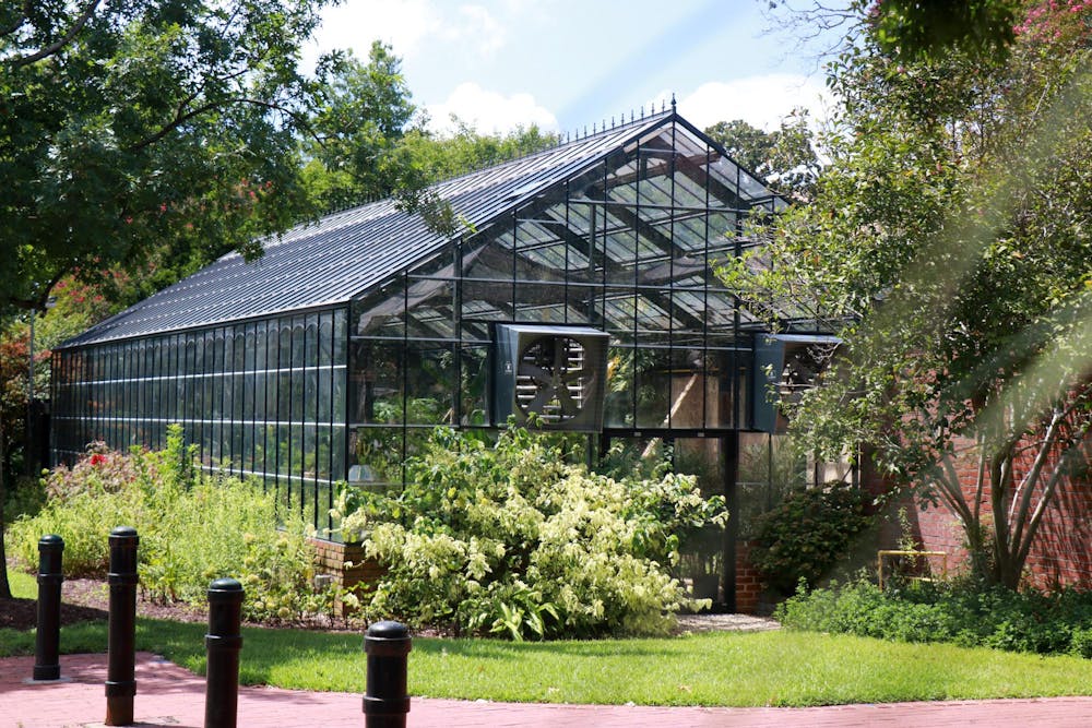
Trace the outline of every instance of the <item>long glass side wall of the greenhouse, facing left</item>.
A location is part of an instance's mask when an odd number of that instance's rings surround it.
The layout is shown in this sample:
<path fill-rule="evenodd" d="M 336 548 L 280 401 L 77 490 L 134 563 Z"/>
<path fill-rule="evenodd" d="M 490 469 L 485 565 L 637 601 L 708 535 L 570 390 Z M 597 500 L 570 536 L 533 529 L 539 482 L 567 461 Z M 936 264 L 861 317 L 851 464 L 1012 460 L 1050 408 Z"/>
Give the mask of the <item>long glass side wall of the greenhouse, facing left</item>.
<path fill-rule="evenodd" d="M 181 425 L 209 470 L 258 477 L 325 527 L 345 466 L 344 309 L 64 349 L 54 368 L 52 450 L 166 444 Z"/>

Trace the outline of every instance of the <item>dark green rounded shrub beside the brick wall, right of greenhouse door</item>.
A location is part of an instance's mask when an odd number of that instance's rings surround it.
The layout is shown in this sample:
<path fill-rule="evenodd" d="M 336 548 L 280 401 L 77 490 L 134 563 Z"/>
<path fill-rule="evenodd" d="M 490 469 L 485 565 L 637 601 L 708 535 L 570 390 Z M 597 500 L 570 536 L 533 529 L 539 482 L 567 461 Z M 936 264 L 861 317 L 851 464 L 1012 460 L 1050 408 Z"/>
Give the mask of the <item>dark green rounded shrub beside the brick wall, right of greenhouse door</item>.
<path fill-rule="evenodd" d="M 802 581 L 818 584 L 873 523 L 870 502 L 866 492 L 841 481 L 792 490 L 758 516 L 751 563 L 783 594 Z"/>

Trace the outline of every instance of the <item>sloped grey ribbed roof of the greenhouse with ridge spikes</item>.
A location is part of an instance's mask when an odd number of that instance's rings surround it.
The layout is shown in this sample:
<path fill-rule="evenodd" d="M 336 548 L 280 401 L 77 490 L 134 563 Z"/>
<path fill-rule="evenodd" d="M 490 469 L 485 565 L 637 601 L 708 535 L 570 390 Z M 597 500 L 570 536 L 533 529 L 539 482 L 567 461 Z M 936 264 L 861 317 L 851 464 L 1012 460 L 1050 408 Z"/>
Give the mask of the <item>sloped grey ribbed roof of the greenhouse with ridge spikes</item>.
<path fill-rule="evenodd" d="M 650 134 L 678 122 L 687 135 L 708 140 L 674 111 L 631 121 L 536 154 L 474 171 L 431 189 L 451 204 L 471 230 L 479 231 L 550 188 L 629 151 Z M 704 152 L 702 152 L 704 154 Z M 784 202 L 753 175 L 720 152 L 720 162 L 741 206 Z M 253 261 L 224 255 L 202 271 L 161 290 L 69 339 L 62 347 L 149 336 L 186 329 L 344 305 L 444 249 L 419 214 L 392 199 L 334 213 L 264 240 Z"/>

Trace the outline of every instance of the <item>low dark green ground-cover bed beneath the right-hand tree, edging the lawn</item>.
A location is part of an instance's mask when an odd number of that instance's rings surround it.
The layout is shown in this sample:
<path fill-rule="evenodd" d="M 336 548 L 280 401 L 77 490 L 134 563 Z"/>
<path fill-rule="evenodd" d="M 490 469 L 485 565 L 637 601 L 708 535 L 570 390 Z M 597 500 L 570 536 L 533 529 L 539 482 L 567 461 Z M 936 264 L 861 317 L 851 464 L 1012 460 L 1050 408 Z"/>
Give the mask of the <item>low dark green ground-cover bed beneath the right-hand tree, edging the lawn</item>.
<path fill-rule="evenodd" d="M 964 582 L 880 589 L 865 578 L 778 608 L 785 626 L 900 642 L 952 642 L 1010 652 L 1092 657 L 1092 593 L 1012 592 Z"/>

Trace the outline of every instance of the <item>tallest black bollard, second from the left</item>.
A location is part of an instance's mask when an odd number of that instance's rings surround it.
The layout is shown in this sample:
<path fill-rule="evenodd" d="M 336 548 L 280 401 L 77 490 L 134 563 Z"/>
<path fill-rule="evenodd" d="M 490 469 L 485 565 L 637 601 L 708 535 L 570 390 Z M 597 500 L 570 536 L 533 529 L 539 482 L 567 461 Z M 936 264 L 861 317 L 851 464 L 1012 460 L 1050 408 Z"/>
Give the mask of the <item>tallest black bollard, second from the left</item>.
<path fill-rule="evenodd" d="M 136 529 L 110 532 L 110 626 L 107 637 L 106 725 L 133 724 L 136 694 Z"/>

